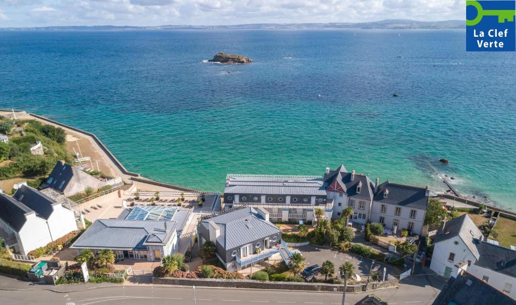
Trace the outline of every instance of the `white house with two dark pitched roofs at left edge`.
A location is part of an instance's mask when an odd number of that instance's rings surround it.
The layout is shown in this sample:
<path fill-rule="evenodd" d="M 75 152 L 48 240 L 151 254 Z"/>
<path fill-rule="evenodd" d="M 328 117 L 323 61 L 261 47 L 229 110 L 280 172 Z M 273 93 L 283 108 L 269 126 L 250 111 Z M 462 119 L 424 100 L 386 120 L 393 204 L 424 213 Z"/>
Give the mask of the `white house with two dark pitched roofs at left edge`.
<path fill-rule="evenodd" d="M 74 211 L 22 184 L 11 197 L 0 193 L 0 230 L 9 247 L 27 255 L 77 230 Z"/>

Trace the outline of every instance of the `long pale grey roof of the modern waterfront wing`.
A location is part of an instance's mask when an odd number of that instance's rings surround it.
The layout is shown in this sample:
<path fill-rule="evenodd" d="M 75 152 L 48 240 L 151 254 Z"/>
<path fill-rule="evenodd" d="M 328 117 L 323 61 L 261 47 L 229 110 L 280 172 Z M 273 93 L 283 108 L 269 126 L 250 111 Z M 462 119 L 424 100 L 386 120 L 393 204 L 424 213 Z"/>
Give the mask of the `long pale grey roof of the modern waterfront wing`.
<path fill-rule="evenodd" d="M 224 193 L 274 195 L 326 195 L 322 176 L 229 174 Z"/>

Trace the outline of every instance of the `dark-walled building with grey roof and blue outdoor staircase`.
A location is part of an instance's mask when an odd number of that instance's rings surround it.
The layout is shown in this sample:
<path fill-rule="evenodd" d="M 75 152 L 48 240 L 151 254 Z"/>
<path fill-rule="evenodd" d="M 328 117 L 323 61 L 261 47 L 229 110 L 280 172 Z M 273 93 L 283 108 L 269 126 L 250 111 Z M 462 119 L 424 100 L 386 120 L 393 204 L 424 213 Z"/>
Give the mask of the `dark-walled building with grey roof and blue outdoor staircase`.
<path fill-rule="evenodd" d="M 224 211 L 201 221 L 197 230 L 199 246 L 212 241 L 217 258 L 229 270 L 257 262 L 252 260 L 255 253 L 260 260 L 278 253 L 281 242 L 280 229 L 269 221 L 269 213 L 263 208 Z"/>

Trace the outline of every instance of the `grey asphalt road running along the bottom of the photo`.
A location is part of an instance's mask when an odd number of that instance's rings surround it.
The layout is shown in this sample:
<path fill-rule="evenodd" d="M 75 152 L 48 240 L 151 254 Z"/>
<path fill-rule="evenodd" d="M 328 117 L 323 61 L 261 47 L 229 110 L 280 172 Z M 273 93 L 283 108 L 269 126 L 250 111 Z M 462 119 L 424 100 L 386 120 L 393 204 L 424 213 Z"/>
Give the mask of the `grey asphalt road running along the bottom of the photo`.
<path fill-rule="evenodd" d="M 73 288 L 81 289 L 74 285 Z M 401 284 L 399 289 L 384 289 L 374 292 L 389 304 L 424 305 L 431 304 L 439 290 L 431 286 Z M 368 293 L 347 294 L 346 304 L 352 305 L 367 296 Z M 18 291 L 0 291 L 0 304 L 68 304 L 68 305 L 158 305 L 158 304 L 192 304 L 228 305 L 228 304 L 264 304 L 264 305 L 305 305 L 305 304 L 341 304 L 342 294 L 298 291 L 243 290 L 220 288 L 196 288 L 196 300 L 193 299 L 191 287 L 162 285 L 123 285 L 99 287 L 69 293 L 57 293 L 41 288 Z"/>

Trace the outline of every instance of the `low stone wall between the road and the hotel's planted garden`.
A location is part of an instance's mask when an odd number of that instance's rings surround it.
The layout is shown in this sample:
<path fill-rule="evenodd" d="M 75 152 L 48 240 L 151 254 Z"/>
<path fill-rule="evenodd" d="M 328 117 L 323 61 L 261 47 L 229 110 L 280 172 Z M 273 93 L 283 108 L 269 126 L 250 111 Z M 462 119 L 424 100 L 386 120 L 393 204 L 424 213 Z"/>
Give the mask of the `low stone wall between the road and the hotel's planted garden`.
<path fill-rule="evenodd" d="M 187 279 L 187 278 L 152 278 L 153 284 L 204 286 L 204 287 L 234 287 L 247 289 L 279 289 L 279 290 L 303 290 L 303 291 L 334 291 L 342 292 L 343 284 L 326 283 L 297 283 L 297 282 L 262 282 L 254 280 L 227 280 L 227 279 Z M 397 287 L 398 280 L 369 283 L 367 291 L 387 287 Z M 346 292 L 360 293 L 365 289 L 365 284 L 348 285 Z"/>

